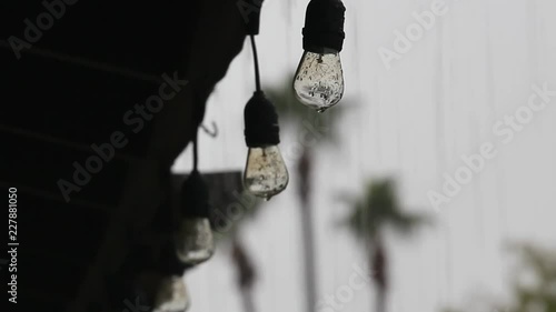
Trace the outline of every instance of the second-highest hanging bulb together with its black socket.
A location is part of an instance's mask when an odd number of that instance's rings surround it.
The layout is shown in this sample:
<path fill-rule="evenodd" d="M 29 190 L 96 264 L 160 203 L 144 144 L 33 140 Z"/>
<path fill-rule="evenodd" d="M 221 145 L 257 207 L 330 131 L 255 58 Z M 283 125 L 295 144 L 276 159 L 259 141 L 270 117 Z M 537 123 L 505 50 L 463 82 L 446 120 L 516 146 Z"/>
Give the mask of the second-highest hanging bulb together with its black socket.
<path fill-rule="evenodd" d="M 262 91 L 256 91 L 245 108 L 245 135 L 249 148 L 244 187 L 269 200 L 286 189 L 288 170 L 278 149 L 278 114 Z"/>

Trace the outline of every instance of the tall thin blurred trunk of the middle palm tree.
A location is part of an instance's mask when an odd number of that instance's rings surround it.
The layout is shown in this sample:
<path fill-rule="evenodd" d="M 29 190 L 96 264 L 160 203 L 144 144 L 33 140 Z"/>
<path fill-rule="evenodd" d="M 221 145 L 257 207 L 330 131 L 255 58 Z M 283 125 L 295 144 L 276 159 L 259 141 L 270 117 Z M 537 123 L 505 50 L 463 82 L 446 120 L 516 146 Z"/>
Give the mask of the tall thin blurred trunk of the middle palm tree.
<path fill-rule="evenodd" d="M 315 261 L 315 238 L 312 235 L 312 208 L 310 204 L 311 190 L 311 163 L 312 157 L 309 149 L 304 149 L 304 153 L 298 162 L 299 173 L 299 201 L 301 203 L 301 229 L 304 242 L 304 263 L 305 263 L 305 286 L 306 286 L 306 311 L 315 312 L 317 302 L 316 285 L 316 261 Z"/>

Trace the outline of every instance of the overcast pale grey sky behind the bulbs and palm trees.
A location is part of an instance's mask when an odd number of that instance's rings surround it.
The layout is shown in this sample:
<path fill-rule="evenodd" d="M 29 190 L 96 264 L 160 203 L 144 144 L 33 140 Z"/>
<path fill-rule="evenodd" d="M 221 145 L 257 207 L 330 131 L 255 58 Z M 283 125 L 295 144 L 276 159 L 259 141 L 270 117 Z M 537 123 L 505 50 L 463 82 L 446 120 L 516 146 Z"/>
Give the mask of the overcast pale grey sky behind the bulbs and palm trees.
<path fill-rule="evenodd" d="M 389 70 L 378 50 L 396 52 L 395 31 L 405 32 L 416 22 L 413 13 L 430 11 L 435 1 L 344 2 L 346 97 L 360 101 L 336 129 L 341 145 L 318 150 L 314 203 L 319 298 L 348 284 L 353 265 L 366 265 L 361 248 L 334 225 L 348 212 L 334 194 L 357 194 L 366 179 L 393 174 L 407 209 L 431 213 L 436 224 L 410 240 L 388 238 L 389 311 L 466 306 L 477 295 L 504 300 L 512 270 L 504 242 L 530 240 L 556 248 L 556 97 L 530 118 L 525 108 L 535 94 L 533 84 L 556 90 L 556 2 L 446 1 L 445 13 L 436 16 L 408 51 L 398 53 Z M 262 85 L 276 84 L 296 69 L 307 3 L 265 1 L 257 37 Z M 200 135 L 201 170 L 245 165 L 242 110 L 254 91 L 248 43 L 210 98 L 206 121 L 216 121 L 221 131 L 217 139 Z M 516 111 L 527 122 L 510 138 L 505 115 Z M 496 125 L 498 121 L 504 124 Z M 287 129 L 282 132 L 280 149 L 291 172 L 291 147 L 298 138 Z M 465 164 L 461 157 L 479 153 L 485 143 L 492 143 L 496 155 L 436 213 L 427 192 L 440 192 L 444 174 L 454 177 Z M 175 170 L 189 168 L 186 151 Z M 291 179 L 244 231 L 259 270 L 256 304 L 261 312 L 304 309 L 295 187 Z M 218 250 L 186 276 L 190 311 L 241 311 L 229 264 L 228 250 Z M 354 291 L 342 311 L 373 311 L 373 301 L 371 285 L 366 285 Z"/>

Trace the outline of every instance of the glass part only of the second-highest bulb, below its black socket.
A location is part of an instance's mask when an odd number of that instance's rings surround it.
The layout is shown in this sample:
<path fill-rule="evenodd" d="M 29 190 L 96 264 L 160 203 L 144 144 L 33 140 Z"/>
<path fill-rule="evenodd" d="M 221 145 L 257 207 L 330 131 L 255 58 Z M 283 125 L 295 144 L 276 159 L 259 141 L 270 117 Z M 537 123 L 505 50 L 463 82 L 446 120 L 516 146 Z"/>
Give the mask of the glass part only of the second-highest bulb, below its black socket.
<path fill-rule="evenodd" d="M 256 197 L 269 200 L 284 191 L 289 175 L 277 145 L 250 148 L 244 173 L 244 187 Z"/>

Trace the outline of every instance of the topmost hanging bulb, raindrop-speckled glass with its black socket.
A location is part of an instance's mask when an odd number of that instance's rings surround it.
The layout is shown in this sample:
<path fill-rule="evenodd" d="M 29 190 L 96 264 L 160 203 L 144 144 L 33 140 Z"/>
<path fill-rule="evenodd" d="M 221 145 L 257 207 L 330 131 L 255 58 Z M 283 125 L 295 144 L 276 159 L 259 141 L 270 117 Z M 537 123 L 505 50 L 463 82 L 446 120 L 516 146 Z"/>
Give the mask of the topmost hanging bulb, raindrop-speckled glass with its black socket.
<path fill-rule="evenodd" d="M 344 95 L 340 54 L 344 44 L 344 13 L 340 0 L 311 0 L 304 28 L 304 54 L 294 78 L 297 99 L 324 112 Z"/>

